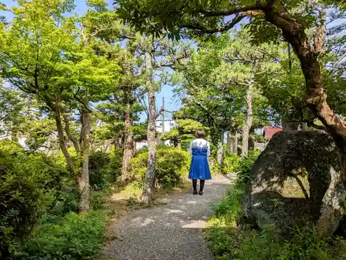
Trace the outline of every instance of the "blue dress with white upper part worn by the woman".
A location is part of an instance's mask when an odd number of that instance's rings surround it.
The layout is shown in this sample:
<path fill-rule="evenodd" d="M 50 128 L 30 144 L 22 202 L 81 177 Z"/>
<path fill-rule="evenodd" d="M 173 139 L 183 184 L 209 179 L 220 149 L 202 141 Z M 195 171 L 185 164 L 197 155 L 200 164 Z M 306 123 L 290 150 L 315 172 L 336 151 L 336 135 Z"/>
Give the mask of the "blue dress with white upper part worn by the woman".
<path fill-rule="evenodd" d="M 208 165 L 208 142 L 203 146 L 191 144 L 192 161 L 189 172 L 189 179 L 210 180 L 210 168 Z"/>

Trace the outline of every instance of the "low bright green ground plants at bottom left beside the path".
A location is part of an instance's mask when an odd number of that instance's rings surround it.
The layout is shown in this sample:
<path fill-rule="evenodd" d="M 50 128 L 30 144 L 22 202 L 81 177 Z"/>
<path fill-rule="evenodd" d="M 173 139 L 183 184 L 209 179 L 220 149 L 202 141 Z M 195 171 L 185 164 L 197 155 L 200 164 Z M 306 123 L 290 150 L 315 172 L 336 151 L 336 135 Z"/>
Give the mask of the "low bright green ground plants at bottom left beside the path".
<path fill-rule="evenodd" d="M 67 214 L 48 223 L 42 220 L 24 243 L 23 259 L 93 259 L 102 249 L 106 214 Z"/>

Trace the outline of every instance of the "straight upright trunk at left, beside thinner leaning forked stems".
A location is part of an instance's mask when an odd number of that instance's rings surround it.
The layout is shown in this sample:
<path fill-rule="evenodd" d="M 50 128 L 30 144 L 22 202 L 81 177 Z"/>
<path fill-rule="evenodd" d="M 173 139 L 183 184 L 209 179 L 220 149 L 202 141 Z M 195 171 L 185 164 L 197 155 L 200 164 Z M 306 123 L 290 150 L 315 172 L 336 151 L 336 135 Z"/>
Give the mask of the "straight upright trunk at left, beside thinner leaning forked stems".
<path fill-rule="evenodd" d="M 82 129 L 80 131 L 80 155 L 82 157 L 82 167 L 78 177 L 78 187 L 80 191 L 80 213 L 89 211 L 89 133 L 90 133 L 90 113 L 82 110 L 80 114 Z"/>

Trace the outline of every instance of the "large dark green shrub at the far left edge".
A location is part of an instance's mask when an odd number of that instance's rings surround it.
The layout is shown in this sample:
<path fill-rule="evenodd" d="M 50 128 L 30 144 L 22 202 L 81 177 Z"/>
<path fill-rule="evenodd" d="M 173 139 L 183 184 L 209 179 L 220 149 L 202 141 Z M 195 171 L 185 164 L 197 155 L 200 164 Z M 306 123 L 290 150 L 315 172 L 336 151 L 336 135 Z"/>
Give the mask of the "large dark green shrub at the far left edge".
<path fill-rule="evenodd" d="M 62 188 L 67 172 L 42 153 L 27 153 L 10 141 L 0 142 L 0 256 L 15 254 Z"/>

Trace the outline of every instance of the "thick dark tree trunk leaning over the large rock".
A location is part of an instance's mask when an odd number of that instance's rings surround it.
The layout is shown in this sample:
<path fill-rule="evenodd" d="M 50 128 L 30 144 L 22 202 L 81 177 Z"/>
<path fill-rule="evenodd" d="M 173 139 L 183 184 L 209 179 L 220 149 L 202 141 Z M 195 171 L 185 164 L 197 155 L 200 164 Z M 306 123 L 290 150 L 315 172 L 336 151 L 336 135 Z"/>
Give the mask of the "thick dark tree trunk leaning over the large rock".
<path fill-rule="evenodd" d="M 304 32 L 304 26 L 284 10 L 279 0 L 268 1 L 268 7 L 264 9 L 264 12 L 267 21 L 282 29 L 286 41 L 291 44 L 295 55 L 300 60 L 307 89 L 305 95 L 307 105 L 325 125 L 337 143 L 345 143 L 346 126 L 329 107 L 327 93 L 322 82 L 320 62 L 318 62 L 318 54 L 322 51 L 322 41 L 314 40 L 315 50 L 313 50 Z M 319 37 L 319 34 L 316 34 L 316 37 Z"/>

